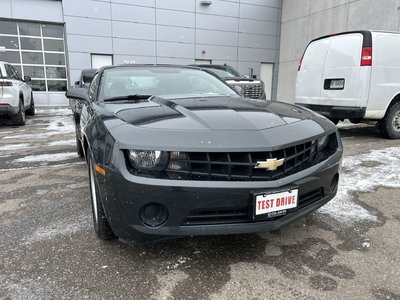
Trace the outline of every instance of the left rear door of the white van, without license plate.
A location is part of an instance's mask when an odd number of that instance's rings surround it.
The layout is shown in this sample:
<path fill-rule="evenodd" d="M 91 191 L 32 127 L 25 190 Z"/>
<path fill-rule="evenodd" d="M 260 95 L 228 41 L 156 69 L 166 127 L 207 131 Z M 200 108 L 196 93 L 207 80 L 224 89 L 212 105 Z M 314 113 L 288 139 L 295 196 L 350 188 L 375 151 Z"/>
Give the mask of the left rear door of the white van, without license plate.
<path fill-rule="evenodd" d="M 297 73 L 296 103 L 320 104 L 322 76 L 330 43 L 330 38 L 316 40 L 305 50 Z"/>

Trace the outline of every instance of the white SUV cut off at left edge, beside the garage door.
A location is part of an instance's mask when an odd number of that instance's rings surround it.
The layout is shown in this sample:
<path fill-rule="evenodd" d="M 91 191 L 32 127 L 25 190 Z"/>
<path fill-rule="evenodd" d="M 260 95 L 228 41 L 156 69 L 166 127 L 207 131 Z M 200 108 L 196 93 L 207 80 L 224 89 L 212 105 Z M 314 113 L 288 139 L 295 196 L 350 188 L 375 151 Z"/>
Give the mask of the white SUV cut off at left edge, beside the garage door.
<path fill-rule="evenodd" d="M 0 116 L 11 117 L 14 125 L 25 125 L 25 114 L 35 114 L 31 87 L 9 63 L 0 61 Z"/>

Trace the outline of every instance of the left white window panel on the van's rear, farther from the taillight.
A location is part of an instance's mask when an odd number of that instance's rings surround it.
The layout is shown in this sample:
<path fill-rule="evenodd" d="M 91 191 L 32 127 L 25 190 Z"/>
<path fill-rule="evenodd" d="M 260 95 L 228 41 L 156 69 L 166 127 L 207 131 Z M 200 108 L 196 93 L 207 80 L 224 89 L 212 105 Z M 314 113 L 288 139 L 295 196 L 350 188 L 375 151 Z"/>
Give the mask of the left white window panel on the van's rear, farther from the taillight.
<path fill-rule="evenodd" d="M 322 70 L 330 42 L 330 39 L 323 39 L 311 43 L 304 53 L 301 69 Z"/>

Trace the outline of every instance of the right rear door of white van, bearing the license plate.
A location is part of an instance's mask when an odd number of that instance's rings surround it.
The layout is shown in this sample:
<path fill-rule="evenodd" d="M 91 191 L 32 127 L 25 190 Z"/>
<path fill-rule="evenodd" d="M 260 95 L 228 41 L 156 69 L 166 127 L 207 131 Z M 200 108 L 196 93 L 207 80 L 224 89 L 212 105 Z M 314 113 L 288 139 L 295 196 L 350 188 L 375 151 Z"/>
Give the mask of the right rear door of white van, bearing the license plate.
<path fill-rule="evenodd" d="M 363 34 L 333 36 L 325 61 L 320 105 L 365 107 L 371 67 L 361 67 Z M 363 68 L 363 74 L 361 74 Z M 370 73 L 368 73 L 370 74 Z M 368 82 L 367 82 L 368 81 Z"/>

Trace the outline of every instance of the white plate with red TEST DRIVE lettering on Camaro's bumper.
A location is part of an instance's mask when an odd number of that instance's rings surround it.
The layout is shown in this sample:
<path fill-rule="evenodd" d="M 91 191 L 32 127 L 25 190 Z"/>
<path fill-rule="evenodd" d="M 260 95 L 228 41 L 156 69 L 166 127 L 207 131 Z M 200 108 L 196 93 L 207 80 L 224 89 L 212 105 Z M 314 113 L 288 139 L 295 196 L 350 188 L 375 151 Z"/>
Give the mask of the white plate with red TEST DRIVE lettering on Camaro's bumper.
<path fill-rule="evenodd" d="M 286 214 L 288 209 L 297 207 L 298 189 L 279 193 L 262 193 L 255 195 L 255 216 L 267 215 L 276 217 Z"/>

